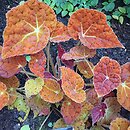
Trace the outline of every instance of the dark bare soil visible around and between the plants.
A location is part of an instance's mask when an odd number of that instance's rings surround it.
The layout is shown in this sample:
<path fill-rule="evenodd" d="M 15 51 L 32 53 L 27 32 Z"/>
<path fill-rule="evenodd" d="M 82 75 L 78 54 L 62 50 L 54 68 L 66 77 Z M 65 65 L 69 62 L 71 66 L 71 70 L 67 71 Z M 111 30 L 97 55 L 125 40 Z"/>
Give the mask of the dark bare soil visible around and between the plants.
<path fill-rule="evenodd" d="M 0 0 L 0 45 L 3 44 L 3 30 L 6 26 L 5 14 L 12 7 L 18 5 L 20 0 Z M 61 18 L 58 16 L 58 20 L 62 21 L 64 24 L 67 24 L 68 18 Z M 125 46 L 126 49 L 115 48 L 115 49 L 99 49 L 97 50 L 97 55 L 90 59 L 94 64 L 96 64 L 102 56 L 109 56 L 117 60 L 120 64 L 130 62 L 130 20 L 125 20 L 123 25 L 120 25 L 116 21 L 112 21 L 112 28 L 117 34 L 120 42 Z M 62 43 L 63 47 L 68 51 L 72 48 L 77 42 L 74 40 L 69 40 L 66 43 Z M 54 44 L 51 47 L 51 55 L 53 59 L 57 56 L 57 45 Z M 25 80 L 24 75 L 18 75 L 18 78 L 21 81 L 21 85 Z M 0 111 L 0 130 L 19 130 L 23 124 L 29 124 L 31 130 L 38 130 L 41 125 L 44 117 L 37 117 L 33 119 L 33 114 L 30 112 L 29 117 L 23 123 L 20 123 L 18 120 L 19 116 L 23 116 L 24 113 L 18 112 L 17 110 L 8 110 L 7 107 Z M 130 120 L 130 112 L 126 111 L 124 108 L 121 110 L 121 115 L 128 120 Z M 49 122 L 54 122 L 58 118 L 57 114 L 52 113 L 48 119 L 46 125 Z M 43 128 L 43 130 L 46 130 Z M 49 127 L 47 128 L 49 130 Z"/>

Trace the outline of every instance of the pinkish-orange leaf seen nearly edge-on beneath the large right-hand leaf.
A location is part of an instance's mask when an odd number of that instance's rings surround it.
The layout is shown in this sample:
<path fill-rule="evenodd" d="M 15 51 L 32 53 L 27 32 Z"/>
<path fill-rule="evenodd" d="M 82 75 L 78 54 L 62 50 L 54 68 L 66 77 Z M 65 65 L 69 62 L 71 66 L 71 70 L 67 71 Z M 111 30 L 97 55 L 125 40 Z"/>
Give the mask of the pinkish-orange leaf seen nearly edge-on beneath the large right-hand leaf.
<path fill-rule="evenodd" d="M 62 59 L 65 60 L 78 60 L 83 58 L 91 58 L 96 54 L 96 50 L 89 49 L 85 46 L 76 46 L 70 49 L 69 52 L 63 54 Z"/>

